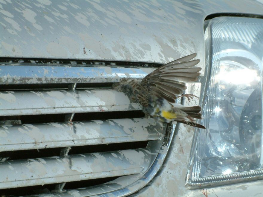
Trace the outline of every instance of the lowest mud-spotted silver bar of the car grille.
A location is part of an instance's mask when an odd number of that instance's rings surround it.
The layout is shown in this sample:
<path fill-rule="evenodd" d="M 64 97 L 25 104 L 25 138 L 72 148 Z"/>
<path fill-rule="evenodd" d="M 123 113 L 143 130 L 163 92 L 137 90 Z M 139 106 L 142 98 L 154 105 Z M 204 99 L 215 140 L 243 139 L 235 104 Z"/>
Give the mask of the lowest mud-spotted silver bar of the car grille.
<path fill-rule="evenodd" d="M 147 170 L 151 157 L 144 148 L 1 161 L 0 189 L 137 174 Z"/>

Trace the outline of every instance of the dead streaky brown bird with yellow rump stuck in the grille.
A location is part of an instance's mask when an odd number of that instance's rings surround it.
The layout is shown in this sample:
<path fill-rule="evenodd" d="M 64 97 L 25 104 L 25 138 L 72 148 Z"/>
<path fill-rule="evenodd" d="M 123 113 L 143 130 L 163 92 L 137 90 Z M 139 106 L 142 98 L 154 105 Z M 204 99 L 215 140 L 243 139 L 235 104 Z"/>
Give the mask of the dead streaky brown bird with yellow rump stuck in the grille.
<path fill-rule="evenodd" d="M 202 68 L 194 67 L 200 59 L 196 53 L 164 64 L 143 79 L 121 78 L 112 84 L 112 89 L 123 92 L 131 103 L 138 103 L 143 113 L 157 121 L 171 123 L 177 121 L 193 127 L 205 129 L 196 119 L 202 119 L 201 107 L 185 107 L 175 103 L 177 98 L 193 100 L 193 94 L 183 94 L 186 82 L 198 80 Z M 194 59 L 194 60 L 193 60 Z"/>

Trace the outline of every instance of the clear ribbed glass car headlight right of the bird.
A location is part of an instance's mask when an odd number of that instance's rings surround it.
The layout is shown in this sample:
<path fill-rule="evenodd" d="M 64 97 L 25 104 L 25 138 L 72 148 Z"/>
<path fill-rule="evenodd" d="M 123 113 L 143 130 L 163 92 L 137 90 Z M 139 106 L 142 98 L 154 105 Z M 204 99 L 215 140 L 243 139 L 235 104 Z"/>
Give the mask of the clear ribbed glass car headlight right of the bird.
<path fill-rule="evenodd" d="M 201 124 L 207 129 L 193 138 L 189 188 L 263 176 L 263 20 L 218 17 L 205 26 Z"/>

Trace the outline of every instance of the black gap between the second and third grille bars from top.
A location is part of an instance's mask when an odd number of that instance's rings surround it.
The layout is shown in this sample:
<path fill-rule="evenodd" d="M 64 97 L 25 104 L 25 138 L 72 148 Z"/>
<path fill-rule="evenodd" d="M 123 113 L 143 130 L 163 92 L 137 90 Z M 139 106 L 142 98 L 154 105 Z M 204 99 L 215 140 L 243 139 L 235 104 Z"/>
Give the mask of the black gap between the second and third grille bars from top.
<path fill-rule="evenodd" d="M 24 116 L 0 116 L 0 122 L 6 120 L 21 120 L 21 124 L 35 124 L 48 122 L 64 122 L 66 114 L 42 114 Z M 118 118 L 143 118 L 144 113 L 140 110 L 114 111 L 114 112 L 89 112 L 75 113 L 73 121 L 108 120 Z"/>

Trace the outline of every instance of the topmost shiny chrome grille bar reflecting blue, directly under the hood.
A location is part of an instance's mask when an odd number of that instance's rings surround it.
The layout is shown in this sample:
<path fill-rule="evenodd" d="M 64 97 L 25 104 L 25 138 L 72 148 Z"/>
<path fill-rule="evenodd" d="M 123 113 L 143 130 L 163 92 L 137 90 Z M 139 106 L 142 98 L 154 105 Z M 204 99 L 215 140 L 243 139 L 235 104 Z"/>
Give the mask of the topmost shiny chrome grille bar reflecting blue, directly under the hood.
<path fill-rule="evenodd" d="M 153 70 L 106 66 L 0 65 L 0 84 L 118 82 L 122 77 L 142 79 Z"/>

